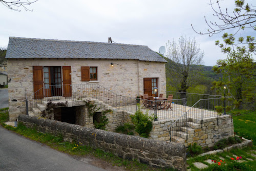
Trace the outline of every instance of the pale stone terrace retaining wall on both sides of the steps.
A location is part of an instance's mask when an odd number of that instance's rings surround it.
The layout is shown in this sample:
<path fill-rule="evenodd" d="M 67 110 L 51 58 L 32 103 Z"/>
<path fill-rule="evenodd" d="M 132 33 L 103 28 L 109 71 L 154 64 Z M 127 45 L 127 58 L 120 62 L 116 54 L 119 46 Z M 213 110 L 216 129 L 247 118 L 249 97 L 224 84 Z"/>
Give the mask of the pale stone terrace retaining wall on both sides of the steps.
<path fill-rule="evenodd" d="M 189 119 L 193 121 L 193 119 Z M 150 138 L 162 141 L 169 141 L 168 127 L 174 123 L 174 119 L 165 119 L 153 122 L 153 130 L 151 132 Z M 187 146 L 190 143 L 197 143 L 201 146 L 212 147 L 214 144 L 230 136 L 234 136 L 233 122 L 230 115 L 211 117 L 203 119 L 203 124 L 201 122 L 195 123 L 190 129 L 188 129 L 188 139 L 184 142 Z M 185 125 L 185 123 L 179 123 L 179 125 Z M 183 130 L 185 131 L 185 130 Z M 184 132 L 185 133 L 185 132 Z M 183 138 L 186 138 L 183 136 Z"/>

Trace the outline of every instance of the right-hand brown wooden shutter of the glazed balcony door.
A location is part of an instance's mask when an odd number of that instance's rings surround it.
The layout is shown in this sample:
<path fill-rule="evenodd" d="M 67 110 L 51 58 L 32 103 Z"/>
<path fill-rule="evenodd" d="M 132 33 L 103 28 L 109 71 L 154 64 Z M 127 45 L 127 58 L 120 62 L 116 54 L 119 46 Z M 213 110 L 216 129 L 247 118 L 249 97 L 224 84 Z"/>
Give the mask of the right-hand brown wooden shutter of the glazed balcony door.
<path fill-rule="evenodd" d="M 63 96 L 71 97 L 72 87 L 71 87 L 71 67 L 70 66 L 62 67 L 62 77 L 63 77 Z"/>

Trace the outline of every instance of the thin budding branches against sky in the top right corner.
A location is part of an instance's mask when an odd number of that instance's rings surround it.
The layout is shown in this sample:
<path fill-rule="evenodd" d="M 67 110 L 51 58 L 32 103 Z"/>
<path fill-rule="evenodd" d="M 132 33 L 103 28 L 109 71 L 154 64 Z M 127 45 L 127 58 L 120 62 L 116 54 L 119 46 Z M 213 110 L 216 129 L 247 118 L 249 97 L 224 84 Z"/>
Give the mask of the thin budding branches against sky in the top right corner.
<path fill-rule="evenodd" d="M 214 11 L 214 16 L 216 16 L 220 22 L 209 22 L 204 16 L 209 29 L 206 33 L 202 33 L 196 31 L 193 25 L 191 25 L 195 32 L 212 36 L 228 29 L 237 29 L 236 33 L 245 28 L 251 28 L 256 31 L 256 6 L 245 4 L 245 0 L 234 1 L 236 8 L 230 13 L 227 8 L 225 11 L 222 10 L 219 0 L 216 1 L 216 4 L 217 9 L 210 0 L 210 6 Z"/>

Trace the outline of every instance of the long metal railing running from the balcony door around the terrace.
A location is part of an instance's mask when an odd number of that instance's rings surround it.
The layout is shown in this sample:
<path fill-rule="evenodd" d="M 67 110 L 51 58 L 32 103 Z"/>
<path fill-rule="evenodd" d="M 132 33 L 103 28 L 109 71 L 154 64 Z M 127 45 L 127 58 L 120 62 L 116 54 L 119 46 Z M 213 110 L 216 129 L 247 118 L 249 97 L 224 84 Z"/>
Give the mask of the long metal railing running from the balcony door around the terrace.
<path fill-rule="evenodd" d="M 220 105 L 223 102 L 223 98 L 221 96 L 217 96 L 218 98 L 210 98 L 215 97 L 215 95 L 203 95 L 180 92 L 167 92 L 167 94 L 173 94 L 175 99 L 173 99 L 172 102 L 170 103 L 171 108 L 168 108 L 166 110 L 166 108 L 163 108 L 164 105 L 168 102 L 168 100 L 151 101 L 122 96 L 100 86 L 97 83 L 51 85 L 40 88 L 29 97 L 27 97 L 26 94 L 26 107 L 28 114 L 28 111 L 32 111 L 33 108 L 46 108 L 46 105 L 49 101 L 57 100 L 56 102 L 65 103 L 66 101 L 71 102 L 83 101 L 87 99 L 98 99 L 106 104 L 109 104 L 110 106 L 113 106 L 116 109 L 125 110 L 131 113 L 135 113 L 138 110 L 139 106 L 136 104 L 139 103 L 141 111 L 148 117 L 154 119 L 178 119 L 184 117 L 184 115 L 188 113 L 186 118 L 190 117 L 194 118 L 194 120 L 198 120 L 198 113 L 201 112 L 204 114 L 204 116 L 216 116 L 217 114 L 215 112 L 215 105 Z M 203 100 L 199 99 L 193 105 L 190 105 L 195 101 L 195 99 L 202 97 L 206 98 Z M 145 107 L 144 103 L 151 103 L 152 106 Z M 201 111 L 199 111 L 199 109 Z M 202 116 L 202 118 L 204 116 Z"/>

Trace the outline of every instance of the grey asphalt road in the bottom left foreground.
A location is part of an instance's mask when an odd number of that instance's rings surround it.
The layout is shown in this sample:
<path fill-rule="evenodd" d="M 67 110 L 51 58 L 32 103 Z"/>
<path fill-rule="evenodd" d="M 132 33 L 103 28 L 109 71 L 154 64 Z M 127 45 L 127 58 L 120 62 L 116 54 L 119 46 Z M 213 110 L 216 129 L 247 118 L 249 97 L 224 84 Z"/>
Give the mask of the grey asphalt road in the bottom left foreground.
<path fill-rule="evenodd" d="M 0 126 L 0 170 L 104 170 L 31 141 Z"/>

